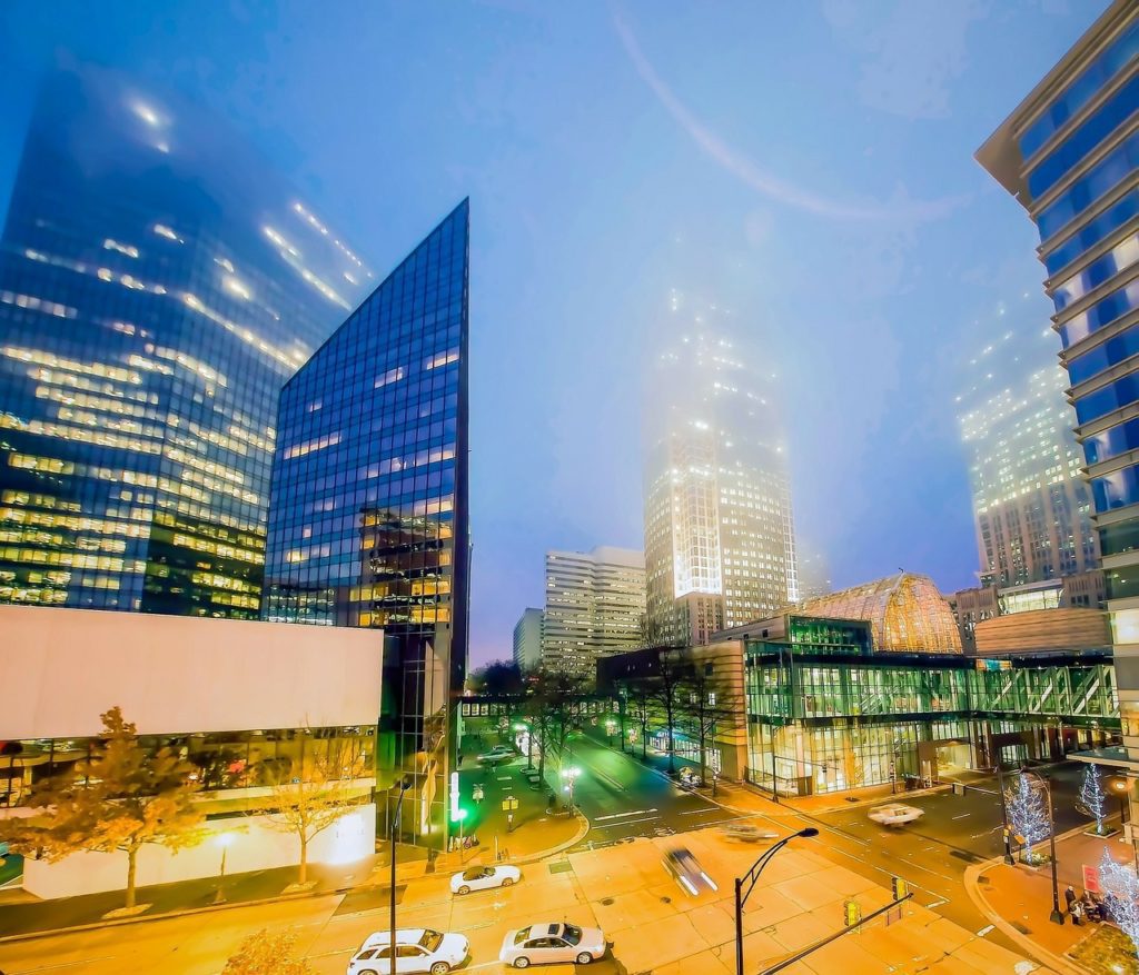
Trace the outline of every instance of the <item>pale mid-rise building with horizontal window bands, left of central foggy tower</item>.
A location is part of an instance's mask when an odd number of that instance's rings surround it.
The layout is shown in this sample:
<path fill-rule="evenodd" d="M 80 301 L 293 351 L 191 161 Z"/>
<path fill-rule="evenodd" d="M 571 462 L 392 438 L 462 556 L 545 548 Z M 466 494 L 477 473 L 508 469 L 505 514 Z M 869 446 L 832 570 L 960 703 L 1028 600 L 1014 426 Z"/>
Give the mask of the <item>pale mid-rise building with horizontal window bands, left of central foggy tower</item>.
<path fill-rule="evenodd" d="M 597 661 L 644 646 L 645 556 L 599 547 L 546 554 L 542 670 L 592 683 Z"/>

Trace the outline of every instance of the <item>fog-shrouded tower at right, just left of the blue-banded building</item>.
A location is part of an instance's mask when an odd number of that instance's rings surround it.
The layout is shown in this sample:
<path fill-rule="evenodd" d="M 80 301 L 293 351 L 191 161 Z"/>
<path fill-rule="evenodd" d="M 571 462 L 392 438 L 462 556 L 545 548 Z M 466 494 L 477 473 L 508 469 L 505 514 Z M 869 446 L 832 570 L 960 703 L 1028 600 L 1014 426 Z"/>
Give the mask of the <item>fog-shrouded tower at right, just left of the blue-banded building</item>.
<path fill-rule="evenodd" d="M 1017 331 L 981 351 L 958 396 L 981 581 L 998 588 L 1087 572 L 1099 558 L 1052 331 Z"/>

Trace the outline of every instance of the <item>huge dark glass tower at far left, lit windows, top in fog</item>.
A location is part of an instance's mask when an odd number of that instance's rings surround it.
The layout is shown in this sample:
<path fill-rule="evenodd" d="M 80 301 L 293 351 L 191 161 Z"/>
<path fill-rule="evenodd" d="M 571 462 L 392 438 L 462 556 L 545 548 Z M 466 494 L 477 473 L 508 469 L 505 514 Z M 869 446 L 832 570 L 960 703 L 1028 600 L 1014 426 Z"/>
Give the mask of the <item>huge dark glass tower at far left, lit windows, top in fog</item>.
<path fill-rule="evenodd" d="M 0 241 L 0 603 L 255 618 L 277 398 L 368 277 L 218 120 L 50 76 Z"/>

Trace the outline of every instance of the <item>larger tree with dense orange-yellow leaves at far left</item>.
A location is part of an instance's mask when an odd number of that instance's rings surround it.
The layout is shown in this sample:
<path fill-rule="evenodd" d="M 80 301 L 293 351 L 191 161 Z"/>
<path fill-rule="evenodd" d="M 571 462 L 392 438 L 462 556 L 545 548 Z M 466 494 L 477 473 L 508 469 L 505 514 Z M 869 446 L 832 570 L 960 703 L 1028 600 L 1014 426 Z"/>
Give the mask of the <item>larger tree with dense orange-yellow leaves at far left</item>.
<path fill-rule="evenodd" d="M 100 716 L 103 735 L 92 757 L 36 786 L 35 814 L 10 821 L 14 845 L 51 862 L 80 851 L 125 853 L 131 909 L 138 854 L 147 843 L 177 851 L 205 837 L 194 803 L 196 768 L 169 747 L 149 753 L 118 707 Z"/>

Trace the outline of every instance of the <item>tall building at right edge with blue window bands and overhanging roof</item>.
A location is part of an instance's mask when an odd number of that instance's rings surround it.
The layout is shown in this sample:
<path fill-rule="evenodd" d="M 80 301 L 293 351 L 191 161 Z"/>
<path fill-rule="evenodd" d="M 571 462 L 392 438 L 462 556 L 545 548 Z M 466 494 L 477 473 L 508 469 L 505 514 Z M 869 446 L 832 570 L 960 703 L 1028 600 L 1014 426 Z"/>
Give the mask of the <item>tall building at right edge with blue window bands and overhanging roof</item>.
<path fill-rule="evenodd" d="M 1040 235 L 1112 614 L 1125 746 L 1115 757 L 1130 762 L 1132 776 L 1139 769 L 1137 106 L 1139 7 L 1115 0 L 977 150 Z M 1131 801 L 1134 816 L 1134 789 Z"/>

